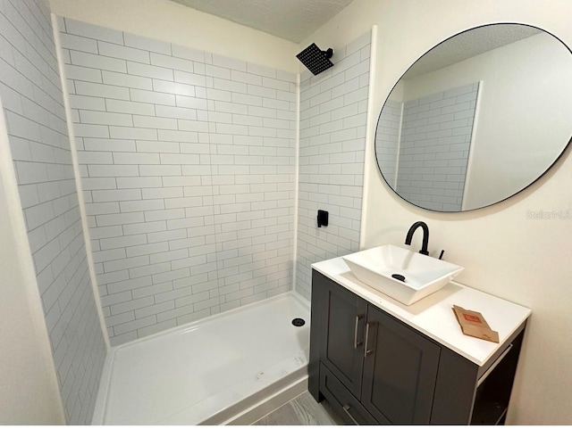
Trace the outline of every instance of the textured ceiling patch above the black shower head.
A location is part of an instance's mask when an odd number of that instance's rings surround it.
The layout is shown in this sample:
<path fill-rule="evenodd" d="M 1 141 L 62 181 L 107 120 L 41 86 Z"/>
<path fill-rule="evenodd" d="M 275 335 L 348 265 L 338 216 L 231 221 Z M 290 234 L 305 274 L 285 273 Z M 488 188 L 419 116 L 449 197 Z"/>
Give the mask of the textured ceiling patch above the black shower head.
<path fill-rule="evenodd" d="M 299 43 L 352 0 L 172 0 Z"/>

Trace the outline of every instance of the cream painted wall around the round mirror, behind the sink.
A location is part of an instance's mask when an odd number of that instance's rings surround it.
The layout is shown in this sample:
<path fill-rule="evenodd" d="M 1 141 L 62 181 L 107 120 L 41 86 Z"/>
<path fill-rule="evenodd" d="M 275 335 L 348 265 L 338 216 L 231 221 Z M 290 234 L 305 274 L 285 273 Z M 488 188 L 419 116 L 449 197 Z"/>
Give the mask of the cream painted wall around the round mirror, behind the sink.
<path fill-rule="evenodd" d="M 374 74 L 375 111 L 391 87 L 421 54 L 459 31 L 490 22 L 520 22 L 547 29 L 572 45 L 572 3 L 552 0 L 355 0 L 309 37 L 317 45 L 345 45 L 378 25 Z M 537 115 L 542 120 L 542 112 Z M 374 128 L 374 123 L 369 124 Z M 373 142 L 368 142 L 373 145 Z M 373 147 L 373 146 L 372 146 Z M 373 151 L 370 151 L 373 154 Z M 408 227 L 425 220 L 430 251 L 445 249 L 445 259 L 464 266 L 459 281 L 530 307 L 533 316 L 517 371 L 508 423 L 569 424 L 572 385 L 572 159 L 569 151 L 550 173 L 526 191 L 473 212 L 435 213 L 403 202 L 367 160 L 365 248 L 403 244 Z M 545 218 L 534 220 L 534 216 Z M 556 210 L 552 213 L 552 210 Z M 558 210 L 561 218 L 559 219 Z M 568 210 L 568 211 L 567 211 Z M 548 213 L 548 215 L 547 215 Z M 420 236 L 415 237 L 414 247 Z"/>

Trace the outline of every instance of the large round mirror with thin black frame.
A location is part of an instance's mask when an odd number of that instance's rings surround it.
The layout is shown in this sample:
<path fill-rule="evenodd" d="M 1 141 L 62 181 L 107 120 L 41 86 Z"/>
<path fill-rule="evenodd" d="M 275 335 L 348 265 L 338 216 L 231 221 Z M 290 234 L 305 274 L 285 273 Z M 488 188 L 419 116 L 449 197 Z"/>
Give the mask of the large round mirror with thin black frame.
<path fill-rule="evenodd" d="M 418 207 L 465 211 L 541 177 L 572 136 L 572 54 L 522 24 L 469 29 L 436 45 L 383 105 L 375 156 Z"/>

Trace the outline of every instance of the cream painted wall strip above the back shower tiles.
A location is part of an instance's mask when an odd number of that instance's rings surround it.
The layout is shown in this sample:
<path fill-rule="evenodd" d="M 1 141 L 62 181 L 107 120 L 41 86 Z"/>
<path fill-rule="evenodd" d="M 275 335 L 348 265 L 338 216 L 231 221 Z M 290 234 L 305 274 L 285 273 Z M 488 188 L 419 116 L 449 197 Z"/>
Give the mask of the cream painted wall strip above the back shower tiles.
<path fill-rule="evenodd" d="M 58 16 L 299 71 L 299 45 L 170 0 L 50 0 L 50 7 Z"/>

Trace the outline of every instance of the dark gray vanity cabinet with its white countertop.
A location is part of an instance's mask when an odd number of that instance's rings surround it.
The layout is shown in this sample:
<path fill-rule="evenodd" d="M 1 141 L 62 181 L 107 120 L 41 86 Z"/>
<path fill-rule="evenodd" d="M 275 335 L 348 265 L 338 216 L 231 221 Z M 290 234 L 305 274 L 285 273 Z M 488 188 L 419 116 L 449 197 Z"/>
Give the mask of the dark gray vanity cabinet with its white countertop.
<path fill-rule="evenodd" d="M 504 423 L 529 309 L 462 285 L 405 306 L 344 266 L 341 258 L 313 266 L 309 392 L 315 400 L 328 400 L 348 424 Z M 446 309 L 465 301 L 491 309 L 499 344 L 460 333 Z"/>

